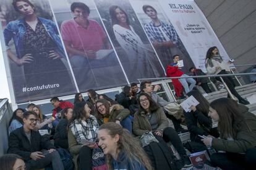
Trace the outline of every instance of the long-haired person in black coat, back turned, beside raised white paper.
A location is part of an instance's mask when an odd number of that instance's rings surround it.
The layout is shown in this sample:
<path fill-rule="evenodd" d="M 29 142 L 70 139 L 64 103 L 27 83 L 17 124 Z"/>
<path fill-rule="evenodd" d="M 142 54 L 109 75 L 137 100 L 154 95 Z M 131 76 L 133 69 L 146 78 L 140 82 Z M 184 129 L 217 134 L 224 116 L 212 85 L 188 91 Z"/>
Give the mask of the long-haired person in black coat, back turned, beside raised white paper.
<path fill-rule="evenodd" d="M 187 93 L 187 96 L 194 96 L 194 98 L 199 102 L 197 106 L 191 106 L 190 112 L 184 112 L 187 129 L 190 132 L 190 140 L 202 143 L 202 138 L 198 135 L 212 135 L 214 137 L 218 137 L 218 130 L 216 128 L 212 128 L 211 118 L 208 117 L 208 101 L 197 90 L 190 91 Z"/>

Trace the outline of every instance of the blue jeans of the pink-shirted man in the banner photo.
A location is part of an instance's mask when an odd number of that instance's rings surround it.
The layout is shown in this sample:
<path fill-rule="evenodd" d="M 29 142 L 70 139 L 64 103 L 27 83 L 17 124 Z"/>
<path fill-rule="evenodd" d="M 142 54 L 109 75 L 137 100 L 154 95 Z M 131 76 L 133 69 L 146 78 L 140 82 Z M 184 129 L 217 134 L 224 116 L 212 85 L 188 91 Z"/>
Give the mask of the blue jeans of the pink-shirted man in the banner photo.
<path fill-rule="evenodd" d="M 122 77 L 122 70 L 115 53 L 110 53 L 103 59 L 72 56 L 70 64 L 80 91 L 126 82 L 125 78 L 117 79 L 119 76 Z"/>

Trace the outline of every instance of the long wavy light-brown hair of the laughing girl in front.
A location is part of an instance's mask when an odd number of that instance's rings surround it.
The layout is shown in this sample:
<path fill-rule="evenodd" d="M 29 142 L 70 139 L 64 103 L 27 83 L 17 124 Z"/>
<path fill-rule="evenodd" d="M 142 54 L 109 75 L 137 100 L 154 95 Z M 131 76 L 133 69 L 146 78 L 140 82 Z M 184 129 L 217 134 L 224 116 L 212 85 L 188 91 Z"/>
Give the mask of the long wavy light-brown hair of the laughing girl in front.
<path fill-rule="evenodd" d="M 142 164 L 145 169 L 151 170 L 150 160 L 148 159 L 145 151 L 140 146 L 139 142 L 130 135 L 127 129 L 122 128 L 121 125 L 116 124 L 114 122 L 108 122 L 100 126 L 99 130 L 105 129 L 112 138 L 115 135 L 119 135 L 119 140 L 117 142 L 117 149 L 121 150 L 121 152 L 126 155 L 128 161 L 132 163 L 134 160 L 138 161 Z M 106 164 L 108 169 L 113 169 L 112 167 L 112 156 L 106 155 Z"/>

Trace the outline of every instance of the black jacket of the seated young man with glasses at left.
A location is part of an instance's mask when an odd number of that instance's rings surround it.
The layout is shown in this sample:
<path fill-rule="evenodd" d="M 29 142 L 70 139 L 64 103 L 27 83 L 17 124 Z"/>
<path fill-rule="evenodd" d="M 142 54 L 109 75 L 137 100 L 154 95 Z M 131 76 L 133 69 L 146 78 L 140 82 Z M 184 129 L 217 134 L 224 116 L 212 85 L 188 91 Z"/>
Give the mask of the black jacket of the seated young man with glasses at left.
<path fill-rule="evenodd" d="M 30 154 L 42 149 L 49 150 L 54 148 L 49 138 L 42 137 L 38 131 L 31 130 L 31 144 L 25 135 L 23 126 L 15 129 L 9 136 L 9 148 L 7 153 L 15 153 L 22 156 L 25 161 L 30 160 Z"/>

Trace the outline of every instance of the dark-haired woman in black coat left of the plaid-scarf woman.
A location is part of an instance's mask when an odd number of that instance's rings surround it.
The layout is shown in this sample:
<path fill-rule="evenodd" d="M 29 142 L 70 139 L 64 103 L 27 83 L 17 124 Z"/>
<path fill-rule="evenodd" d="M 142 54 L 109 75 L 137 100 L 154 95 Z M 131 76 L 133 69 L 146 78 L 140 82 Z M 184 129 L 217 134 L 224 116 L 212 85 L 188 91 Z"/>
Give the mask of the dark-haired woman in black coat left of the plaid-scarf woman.
<path fill-rule="evenodd" d="M 67 125 L 72 118 L 73 109 L 65 108 L 61 111 L 61 120 L 55 128 L 54 146 L 57 148 L 69 149 L 69 142 L 67 140 Z"/>

